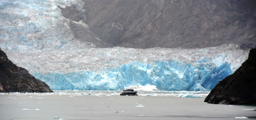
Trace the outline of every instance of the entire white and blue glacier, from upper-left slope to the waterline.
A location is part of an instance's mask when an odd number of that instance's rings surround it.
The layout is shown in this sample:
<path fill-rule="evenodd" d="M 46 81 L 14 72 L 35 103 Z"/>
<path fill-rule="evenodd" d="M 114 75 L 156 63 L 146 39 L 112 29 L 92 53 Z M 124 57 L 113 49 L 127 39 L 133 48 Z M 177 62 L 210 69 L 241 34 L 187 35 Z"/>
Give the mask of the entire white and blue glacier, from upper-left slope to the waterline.
<path fill-rule="evenodd" d="M 0 0 L 0 48 L 52 90 L 209 91 L 231 75 L 248 50 L 229 44 L 195 49 L 96 48 L 74 37 L 58 6 L 80 0 Z M 76 22 L 86 26 L 82 21 Z"/>

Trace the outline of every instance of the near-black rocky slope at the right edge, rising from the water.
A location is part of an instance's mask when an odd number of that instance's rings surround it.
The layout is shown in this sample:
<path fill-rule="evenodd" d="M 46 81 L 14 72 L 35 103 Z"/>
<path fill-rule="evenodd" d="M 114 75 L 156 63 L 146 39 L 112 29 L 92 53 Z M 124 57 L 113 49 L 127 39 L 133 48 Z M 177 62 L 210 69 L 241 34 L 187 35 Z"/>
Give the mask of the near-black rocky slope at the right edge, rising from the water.
<path fill-rule="evenodd" d="M 256 105 L 256 49 L 236 72 L 216 85 L 204 102 Z"/>

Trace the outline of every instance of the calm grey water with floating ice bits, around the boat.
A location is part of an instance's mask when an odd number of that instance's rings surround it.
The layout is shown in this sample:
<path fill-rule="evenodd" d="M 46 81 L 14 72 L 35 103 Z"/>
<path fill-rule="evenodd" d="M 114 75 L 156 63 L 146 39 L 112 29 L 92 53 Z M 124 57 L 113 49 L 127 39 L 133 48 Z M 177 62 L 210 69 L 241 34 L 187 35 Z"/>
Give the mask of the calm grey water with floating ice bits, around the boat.
<path fill-rule="evenodd" d="M 202 91 L 66 90 L 1 93 L 1 120 L 234 120 L 255 116 L 256 106 L 207 104 Z"/>

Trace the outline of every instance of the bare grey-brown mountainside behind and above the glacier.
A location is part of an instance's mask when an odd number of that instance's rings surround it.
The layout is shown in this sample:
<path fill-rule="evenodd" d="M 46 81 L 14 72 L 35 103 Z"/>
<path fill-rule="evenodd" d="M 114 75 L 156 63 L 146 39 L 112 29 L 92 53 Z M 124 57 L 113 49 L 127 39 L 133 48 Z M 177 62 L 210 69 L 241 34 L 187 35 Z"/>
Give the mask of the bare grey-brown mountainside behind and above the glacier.
<path fill-rule="evenodd" d="M 256 47 L 255 0 L 84 0 L 60 9 L 89 26 L 70 23 L 77 39 L 96 47 Z"/>

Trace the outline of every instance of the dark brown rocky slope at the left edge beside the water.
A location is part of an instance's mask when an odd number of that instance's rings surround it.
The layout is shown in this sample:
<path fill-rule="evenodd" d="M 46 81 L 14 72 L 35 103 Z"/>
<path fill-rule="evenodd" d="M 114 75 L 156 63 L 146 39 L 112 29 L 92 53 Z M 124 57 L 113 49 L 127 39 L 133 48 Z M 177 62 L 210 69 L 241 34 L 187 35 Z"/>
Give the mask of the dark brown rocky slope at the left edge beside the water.
<path fill-rule="evenodd" d="M 46 83 L 17 67 L 0 49 L 0 92 L 52 92 Z"/>

